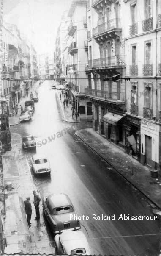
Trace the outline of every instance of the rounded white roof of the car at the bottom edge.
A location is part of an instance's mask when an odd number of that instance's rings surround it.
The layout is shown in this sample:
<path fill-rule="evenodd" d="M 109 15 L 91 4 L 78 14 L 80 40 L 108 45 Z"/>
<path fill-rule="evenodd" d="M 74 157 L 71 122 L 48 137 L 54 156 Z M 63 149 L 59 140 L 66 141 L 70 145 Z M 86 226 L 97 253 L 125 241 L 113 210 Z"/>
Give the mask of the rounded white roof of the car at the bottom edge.
<path fill-rule="evenodd" d="M 85 248 L 89 250 L 89 245 L 85 234 L 81 230 L 66 230 L 60 234 L 60 241 L 63 243 L 65 253 L 71 254 L 71 250 Z"/>

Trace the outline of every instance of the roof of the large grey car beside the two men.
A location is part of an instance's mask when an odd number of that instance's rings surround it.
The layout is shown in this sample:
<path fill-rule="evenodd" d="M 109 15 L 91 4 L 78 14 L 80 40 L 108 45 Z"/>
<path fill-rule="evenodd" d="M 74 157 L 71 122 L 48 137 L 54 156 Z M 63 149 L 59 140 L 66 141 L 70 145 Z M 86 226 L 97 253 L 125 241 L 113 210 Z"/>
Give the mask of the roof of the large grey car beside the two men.
<path fill-rule="evenodd" d="M 60 207 L 60 206 L 67 206 L 72 205 L 71 200 L 69 199 L 68 195 L 66 194 L 52 194 L 48 196 L 48 202 L 52 206 L 52 208 Z"/>

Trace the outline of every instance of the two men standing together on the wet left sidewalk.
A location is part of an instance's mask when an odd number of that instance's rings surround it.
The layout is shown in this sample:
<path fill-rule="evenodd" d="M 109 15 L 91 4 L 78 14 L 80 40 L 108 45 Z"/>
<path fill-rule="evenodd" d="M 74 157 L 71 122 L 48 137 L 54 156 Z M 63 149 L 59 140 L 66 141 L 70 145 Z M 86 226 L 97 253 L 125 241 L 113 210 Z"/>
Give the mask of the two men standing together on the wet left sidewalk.
<path fill-rule="evenodd" d="M 35 213 L 36 213 L 36 217 L 35 220 L 39 220 L 40 219 L 40 211 L 39 211 L 39 203 L 41 201 L 41 198 L 39 197 L 39 195 L 36 194 L 36 191 L 33 190 L 33 204 L 35 206 Z M 27 223 L 29 225 L 29 227 L 31 226 L 31 215 L 32 215 L 32 206 L 30 203 L 30 197 L 26 198 L 26 201 L 24 201 L 24 205 L 25 205 L 25 212 L 27 214 Z"/>

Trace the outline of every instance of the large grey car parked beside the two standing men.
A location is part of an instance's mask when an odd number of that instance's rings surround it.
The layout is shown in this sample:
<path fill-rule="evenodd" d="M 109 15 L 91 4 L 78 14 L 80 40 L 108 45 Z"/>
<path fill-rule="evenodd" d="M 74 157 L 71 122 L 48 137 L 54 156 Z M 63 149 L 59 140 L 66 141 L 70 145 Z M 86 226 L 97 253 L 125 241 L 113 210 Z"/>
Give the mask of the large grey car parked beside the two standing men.
<path fill-rule="evenodd" d="M 44 197 L 43 210 L 54 234 L 60 234 L 66 229 L 78 230 L 81 228 L 79 220 L 74 219 L 77 214 L 68 195 L 52 194 Z M 71 218 L 70 214 L 73 215 Z"/>

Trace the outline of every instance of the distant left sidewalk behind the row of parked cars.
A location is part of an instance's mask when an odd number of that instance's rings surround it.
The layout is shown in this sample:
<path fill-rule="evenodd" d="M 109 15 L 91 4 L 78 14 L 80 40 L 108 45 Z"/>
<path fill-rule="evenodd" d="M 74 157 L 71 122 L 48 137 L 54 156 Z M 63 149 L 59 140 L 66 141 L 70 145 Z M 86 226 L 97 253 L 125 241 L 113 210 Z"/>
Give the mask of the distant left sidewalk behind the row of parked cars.
<path fill-rule="evenodd" d="M 17 115 L 14 114 L 14 116 L 12 117 L 9 117 L 9 125 L 12 126 L 12 125 L 18 125 L 20 122 L 19 122 L 19 116 L 21 114 L 21 107 L 20 105 L 23 107 L 24 109 L 24 103 L 26 100 L 30 100 L 30 92 L 31 91 L 36 91 L 39 87 L 39 81 L 37 81 L 36 83 L 34 83 L 34 85 L 32 86 L 32 88 L 28 91 L 28 97 L 22 97 L 19 104 L 18 104 L 18 113 Z"/>

